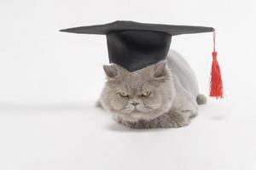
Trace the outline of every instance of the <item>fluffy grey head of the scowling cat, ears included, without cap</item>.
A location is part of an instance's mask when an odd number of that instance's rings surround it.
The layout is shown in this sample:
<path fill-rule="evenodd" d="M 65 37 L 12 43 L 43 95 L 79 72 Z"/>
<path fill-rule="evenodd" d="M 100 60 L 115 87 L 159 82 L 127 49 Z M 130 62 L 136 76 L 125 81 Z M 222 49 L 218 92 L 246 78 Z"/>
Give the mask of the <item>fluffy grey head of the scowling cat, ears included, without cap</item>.
<path fill-rule="evenodd" d="M 129 72 L 119 65 L 104 65 L 108 81 L 102 106 L 126 121 L 151 120 L 168 111 L 174 95 L 171 71 L 165 62 Z"/>

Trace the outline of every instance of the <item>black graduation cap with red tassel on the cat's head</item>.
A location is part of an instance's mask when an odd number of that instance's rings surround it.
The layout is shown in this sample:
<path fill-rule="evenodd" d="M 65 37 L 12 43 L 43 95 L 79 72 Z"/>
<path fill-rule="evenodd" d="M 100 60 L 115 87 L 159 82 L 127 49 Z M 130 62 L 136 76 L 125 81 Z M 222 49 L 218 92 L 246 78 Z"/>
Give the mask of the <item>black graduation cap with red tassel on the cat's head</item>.
<path fill-rule="evenodd" d="M 106 35 L 109 62 L 121 65 L 131 72 L 166 59 L 172 36 L 214 32 L 210 95 L 217 98 L 223 97 L 222 81 L 216 59 L 217 52 L 215 51 L 215 31 L 212 27 L 145 24 L 118 20 L 104 25 L 80 26 L 61 31 Z"/>

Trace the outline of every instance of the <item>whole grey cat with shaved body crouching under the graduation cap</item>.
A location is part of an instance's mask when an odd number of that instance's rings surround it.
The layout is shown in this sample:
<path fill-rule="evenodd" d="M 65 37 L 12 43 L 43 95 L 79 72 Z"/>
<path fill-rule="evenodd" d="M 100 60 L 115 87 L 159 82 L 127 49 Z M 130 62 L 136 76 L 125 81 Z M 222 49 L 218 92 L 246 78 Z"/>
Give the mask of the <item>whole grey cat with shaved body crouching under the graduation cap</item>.
<path fill-rule="evenodd" d="M 100 105 L 113 120 L 133 128 L 184 127 L 207 98 L 199 94 L 195 73 L 170 50 L 166 60 L 129 72 L 104 65 L 107 82 Z"/>

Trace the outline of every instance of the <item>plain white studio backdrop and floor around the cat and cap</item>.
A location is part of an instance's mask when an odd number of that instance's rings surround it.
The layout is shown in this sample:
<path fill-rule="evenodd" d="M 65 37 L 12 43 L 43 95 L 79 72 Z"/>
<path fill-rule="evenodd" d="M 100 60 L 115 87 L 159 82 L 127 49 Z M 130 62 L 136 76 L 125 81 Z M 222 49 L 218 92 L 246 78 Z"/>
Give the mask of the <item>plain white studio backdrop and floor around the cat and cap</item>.
<path fill-rule="evenodd" d="M 253 0 L 0 2 L 0 169 L 256 168 Z M 95 108 L 106 37 L 58 30 L 114 20 L 213 26 L 225 98 L 189 127 L 134 130 Z M 172 38 L 208 94 L 212 34 Z"/>

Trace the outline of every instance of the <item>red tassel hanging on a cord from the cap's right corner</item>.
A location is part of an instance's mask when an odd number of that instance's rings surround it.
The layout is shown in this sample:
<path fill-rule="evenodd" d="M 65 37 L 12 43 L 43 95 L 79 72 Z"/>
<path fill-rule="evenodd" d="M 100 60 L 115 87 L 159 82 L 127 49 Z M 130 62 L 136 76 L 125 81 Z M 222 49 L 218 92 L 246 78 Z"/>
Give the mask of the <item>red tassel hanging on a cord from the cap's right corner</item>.
<path fill-rule="evenodd" d="M 215 50 L 215 30 L 213 31 L 212 71 L 210 83 L 210 96 L 216 97 L 217 99 L 223 98 L 223 84 L 217 60 L 217 51 Z"/>

